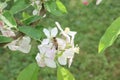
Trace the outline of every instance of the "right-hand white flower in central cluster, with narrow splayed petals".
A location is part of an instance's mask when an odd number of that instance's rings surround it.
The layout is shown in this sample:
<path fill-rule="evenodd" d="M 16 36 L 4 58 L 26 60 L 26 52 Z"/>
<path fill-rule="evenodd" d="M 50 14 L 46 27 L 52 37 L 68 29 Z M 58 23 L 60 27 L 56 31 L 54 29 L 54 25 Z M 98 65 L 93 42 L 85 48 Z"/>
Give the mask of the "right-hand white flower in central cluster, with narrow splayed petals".
<path fill-rule="evenodd" d="M 61 56 L 58 57 L 58 62 L 61 65 L 66 65 L 68 62 L 68 66 L 70 67 L 73 61 L 74 53 L 79 53 L 79 47 L 74 47 L 74 38 L 77 32 L 70 31 L 69 28 L 65 28 L 65 30 L 63 30 L 58 22 L 55 23 L 58 29 L 61 31 L 61 34 L 66 38 L 66 45 L 64 48 L 64 52 L 62 53 Z M 65 43 L 61 43 L 61 44 L 65 44 Z"/>

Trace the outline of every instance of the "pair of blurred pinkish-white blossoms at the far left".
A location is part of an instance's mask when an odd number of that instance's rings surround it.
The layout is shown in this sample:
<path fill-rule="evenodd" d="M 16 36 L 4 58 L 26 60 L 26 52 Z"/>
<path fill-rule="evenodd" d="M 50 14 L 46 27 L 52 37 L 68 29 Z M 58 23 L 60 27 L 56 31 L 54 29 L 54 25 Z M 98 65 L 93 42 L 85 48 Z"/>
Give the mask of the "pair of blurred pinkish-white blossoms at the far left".
<path fill-rule="evenodd" d="M 6 26 L 2 21 L 0 21 L 0 32 L 2 36 L 5 37 L 16 37 L 15 32 L 10 27 Z M 29 53 L 31 49 L 30 42 L 30 37 L 22 36 L 6 44 L 5 47 L 8 47 L 12 51 L 18 50 L 23 53 Z"/>

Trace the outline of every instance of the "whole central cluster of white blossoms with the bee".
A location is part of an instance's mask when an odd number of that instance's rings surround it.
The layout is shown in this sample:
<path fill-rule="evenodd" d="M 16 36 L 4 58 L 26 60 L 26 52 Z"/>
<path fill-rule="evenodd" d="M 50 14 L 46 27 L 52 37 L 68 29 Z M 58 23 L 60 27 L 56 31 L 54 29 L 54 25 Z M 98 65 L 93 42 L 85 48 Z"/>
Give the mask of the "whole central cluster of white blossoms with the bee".
<path fill-rule="evenodd" d="M 40 67 L 56 68 L 57 65 L 71 66 L 74 54 L 79 53 L 79 47 L 74 45 L 75 31 L 70 31 L 69 28 L 63 30 L 58 22 L 55 22 L 57 27 L 53 29 L 43 29 L 46 37 L 38 45 L 39 53 L 36 56 L 36 61 Z M 60 34 L 58 35 L 58 29 Z"/>

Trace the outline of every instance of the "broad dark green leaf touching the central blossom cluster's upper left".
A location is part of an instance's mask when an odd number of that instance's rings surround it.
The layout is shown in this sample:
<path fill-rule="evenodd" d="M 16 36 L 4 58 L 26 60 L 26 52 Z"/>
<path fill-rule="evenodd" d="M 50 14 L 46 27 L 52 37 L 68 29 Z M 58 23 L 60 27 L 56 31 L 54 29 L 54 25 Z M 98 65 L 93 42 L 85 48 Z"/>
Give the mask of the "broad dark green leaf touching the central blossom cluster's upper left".
<path fill-rule="evenodd" d="M 40 26 L 41 27 L 41 26 Z M 35 40 L 40 40 L 42 36 L 42 29 L 41 28 L 33 28 L 31 26 L 21 26 L 19 27 L 20 32 L 23 32 L 24 34 L 30 36 L 31 38 Z"/>

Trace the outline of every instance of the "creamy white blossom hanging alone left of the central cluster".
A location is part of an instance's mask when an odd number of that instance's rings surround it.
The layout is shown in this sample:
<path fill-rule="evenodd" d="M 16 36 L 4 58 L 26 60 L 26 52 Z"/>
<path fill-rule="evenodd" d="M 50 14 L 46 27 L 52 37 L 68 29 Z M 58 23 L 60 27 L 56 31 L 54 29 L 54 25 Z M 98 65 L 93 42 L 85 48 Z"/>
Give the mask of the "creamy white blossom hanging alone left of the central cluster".
<path fill-rule="evenodd" d="M 13 51 L 19 50 L 23 53 L 29 53 L 31 49 L 30 41 L 30 37 L 24 36 L 22 39 L 18 38 L 17 40 L 8 43 L 6 47 Z"/>

